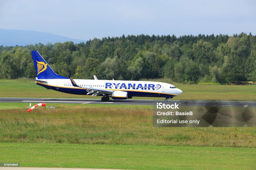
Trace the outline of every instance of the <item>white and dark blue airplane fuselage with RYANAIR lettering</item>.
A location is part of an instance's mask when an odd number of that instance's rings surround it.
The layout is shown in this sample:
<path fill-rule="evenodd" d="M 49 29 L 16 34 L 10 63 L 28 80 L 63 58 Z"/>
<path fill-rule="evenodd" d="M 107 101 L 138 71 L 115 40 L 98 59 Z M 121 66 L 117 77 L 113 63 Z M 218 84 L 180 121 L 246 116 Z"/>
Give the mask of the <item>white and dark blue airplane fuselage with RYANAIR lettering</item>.
<path fill-rule="evenodd" d="M 74 79 L 80 87 L 72 86 L 70 79 L 41 79 L 46 83 L 37 82 L 40 86 L 65 93 L 86 95 L 86 88 L 90 87 L 102 90 L 125 91 L 128 96 L 148 96 L 148 97 L 172 97 L 182 93 L 182 91 L 172 84 L 153 81 L 122 81 L 122 80 L 83 80 Z"/>

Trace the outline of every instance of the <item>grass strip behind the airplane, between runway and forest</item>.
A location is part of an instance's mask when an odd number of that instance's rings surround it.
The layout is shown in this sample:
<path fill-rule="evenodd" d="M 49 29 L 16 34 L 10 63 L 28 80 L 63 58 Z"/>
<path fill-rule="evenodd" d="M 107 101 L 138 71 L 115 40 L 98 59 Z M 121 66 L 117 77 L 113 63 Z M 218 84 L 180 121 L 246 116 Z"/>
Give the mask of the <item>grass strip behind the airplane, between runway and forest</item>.
<path fill-rule="evenodd" d="M 155 81 L 167 82 L 181 89 L 183 93 L 175 96 L 174 100 L 188 99 L 235 99 L 235 100 L 253 100 L 255 99 L 255 85 L 248 86 L 228 86 L 228 85 L 203 85 L 203 84 L 177 84 L 164 79 Z M 12 88 L 10 88 L 12 87 Z M 0 80 L 0 97 L 31 97 L 31 98 L 92 98 L 90 95 L 73 95 L 61 93 L 54 90 L 47 90 L 38 86 L 34 81 L 27 79 Z M 134 99 L 164 100 L 164 98 L 145 98 L 134 97 Z"/>

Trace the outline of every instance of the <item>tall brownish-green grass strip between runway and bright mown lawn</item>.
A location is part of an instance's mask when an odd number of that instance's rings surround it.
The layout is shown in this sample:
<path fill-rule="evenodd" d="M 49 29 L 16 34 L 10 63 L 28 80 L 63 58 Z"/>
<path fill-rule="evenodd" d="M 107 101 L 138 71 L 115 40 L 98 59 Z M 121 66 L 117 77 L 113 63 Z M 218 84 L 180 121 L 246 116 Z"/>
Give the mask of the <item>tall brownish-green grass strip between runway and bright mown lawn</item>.
<path fill-rule="evenodd" d="M 0 110 L 0 142 L 256 147 L 256 128 L 153 127 L 152 106 L 53 106 L 46 110 L 46 141 L 44 107 Z"/>

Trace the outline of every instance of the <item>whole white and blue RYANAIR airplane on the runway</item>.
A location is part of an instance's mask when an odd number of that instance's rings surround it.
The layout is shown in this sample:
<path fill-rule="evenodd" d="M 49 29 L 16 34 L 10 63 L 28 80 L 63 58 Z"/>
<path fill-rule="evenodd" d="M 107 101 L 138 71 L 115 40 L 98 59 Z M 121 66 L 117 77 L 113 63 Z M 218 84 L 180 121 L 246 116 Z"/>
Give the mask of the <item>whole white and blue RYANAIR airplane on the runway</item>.
<path fill-rule="evenodd" d="M 94 80 L 72 79 L 57 75 L 47 64 L 38 51 L 31 51 L 36 69 L 36 79 L 39 86 L 63 93 L 102 96 L 101 101 L 132 99 L 140 97 L 163 97 L 165 101 L 176 95 L 182 94 L 182 90 L 172 84 L 154 81 L 124 81 L 124 80 Z"/>

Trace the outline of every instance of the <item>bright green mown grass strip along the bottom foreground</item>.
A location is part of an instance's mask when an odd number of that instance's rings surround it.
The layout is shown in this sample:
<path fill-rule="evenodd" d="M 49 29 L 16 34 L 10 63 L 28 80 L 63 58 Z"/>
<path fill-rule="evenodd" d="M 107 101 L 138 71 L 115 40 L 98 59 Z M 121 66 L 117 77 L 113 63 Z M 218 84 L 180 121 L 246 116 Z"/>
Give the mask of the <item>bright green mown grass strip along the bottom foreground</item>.
<path fill-rule="evenodd" d="M 255 148 L 0 143 L 1 162 L 22 167 L 254 169 Z M 15 155 L 15 156 L 14 156 Z"/>

